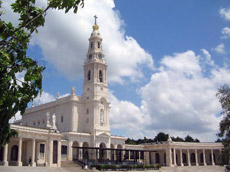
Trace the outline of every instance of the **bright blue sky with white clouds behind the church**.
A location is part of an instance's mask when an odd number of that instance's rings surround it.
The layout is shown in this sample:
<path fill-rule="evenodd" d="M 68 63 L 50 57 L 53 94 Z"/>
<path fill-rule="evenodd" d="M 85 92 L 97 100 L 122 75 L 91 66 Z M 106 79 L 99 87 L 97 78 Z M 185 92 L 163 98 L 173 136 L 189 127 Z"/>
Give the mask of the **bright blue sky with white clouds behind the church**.
<path fill-rule="evenodd" d="M 81 95 L 96 14 L 108 62 L 112 134 L 143 138 L 163 131 L 216 140 L 221 107 L 215 94 L 230 84 L 230 2 L 141 2 L 86 0 L 77 15 L 48 12 L 28 51 L 46 66 L 42 103 L 72 86 Z"/>

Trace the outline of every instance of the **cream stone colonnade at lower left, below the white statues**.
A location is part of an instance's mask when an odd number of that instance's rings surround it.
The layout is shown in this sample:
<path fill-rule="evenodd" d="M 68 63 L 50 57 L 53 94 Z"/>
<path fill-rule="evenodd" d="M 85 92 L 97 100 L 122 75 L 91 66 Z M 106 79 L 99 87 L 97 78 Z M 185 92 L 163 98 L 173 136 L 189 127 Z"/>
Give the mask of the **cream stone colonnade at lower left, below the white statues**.
<path fill-rule="evenodd" d="M 31 146 L 27 146 L 27 143 Z M 40 140 L 35 138 L 17 139 L 6 144 L 3 148 L 3 166 L 37 166 L 39 165 L 40 147 L 38 143 L 44 143 L 44 166 L 61 166 L 61 141 L 60 140 Z M 23 146 L 26 144 L 26 146 Z M 54 153 L 56 151 L 56 153 Z M 28 154 L 28 152 L 30 152 Z M 55 156 L 55 157 L 54 157 Z"/>

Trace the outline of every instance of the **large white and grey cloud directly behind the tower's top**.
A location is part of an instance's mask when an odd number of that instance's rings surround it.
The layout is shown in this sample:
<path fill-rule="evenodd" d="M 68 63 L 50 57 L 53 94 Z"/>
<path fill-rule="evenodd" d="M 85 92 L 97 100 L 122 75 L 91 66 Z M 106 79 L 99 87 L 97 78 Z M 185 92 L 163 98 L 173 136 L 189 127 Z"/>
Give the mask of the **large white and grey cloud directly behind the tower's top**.
<path fill-rule="evenodd" d="M 45 59 L 70 79 L 82 75 L 88 38 L 92 32 L 93 16 L 97 14 L 110 82 L 124 82 L 124 77 L 136 81 L 143 77 L 140 65 L 153 68 L 153 60 L 137 41 L 125 34 L 124 22 L 114 10 L 113 0 L 85 1 L 77 14 L 52 10 L 46 16 L 45 27 L 33 40 L 43 51 Z"/>

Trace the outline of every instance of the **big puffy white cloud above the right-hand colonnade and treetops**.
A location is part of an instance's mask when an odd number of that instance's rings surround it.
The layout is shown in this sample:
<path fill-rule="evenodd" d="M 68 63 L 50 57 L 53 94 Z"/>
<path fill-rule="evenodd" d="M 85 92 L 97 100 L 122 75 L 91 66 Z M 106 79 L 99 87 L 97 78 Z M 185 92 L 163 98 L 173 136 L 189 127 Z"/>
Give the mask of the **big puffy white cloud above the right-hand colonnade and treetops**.
<path fill-rule="evenodd" d="M 211 60 L 207 51 L 203 53 Z M 139 91 L 142 109 L 151 115 L 148 130 L 215 140 L 221 120 L 217 116 L 221 106 L 216 93 L 220 85 L 230 84 L 230 70 L 215 65 L 210 75 L 204 76 L 201 59 L 200 55 L 187 51 L 161 60 L 159 72 Z"/>

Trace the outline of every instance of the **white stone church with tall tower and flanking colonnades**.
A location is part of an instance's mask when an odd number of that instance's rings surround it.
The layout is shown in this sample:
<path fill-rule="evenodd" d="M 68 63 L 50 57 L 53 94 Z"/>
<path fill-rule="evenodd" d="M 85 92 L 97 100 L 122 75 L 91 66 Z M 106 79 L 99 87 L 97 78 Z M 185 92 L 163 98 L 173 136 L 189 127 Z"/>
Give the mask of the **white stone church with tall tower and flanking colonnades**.
<path fill-rule="evenodd" d="M 221 143 L 167 142 L 127 145 L 110 134 L 107 64 L 99 26 L 93 25 L 84 63 L 81 96 L 71 94 L 26 109 L 11 128 L 18 132 L 0 149 L 0 165 L 61 167 L 82 164 L 138 163 L 163 166 L 217 165 Z M 1 167 L 0 167 L 1 168 Z"/>

